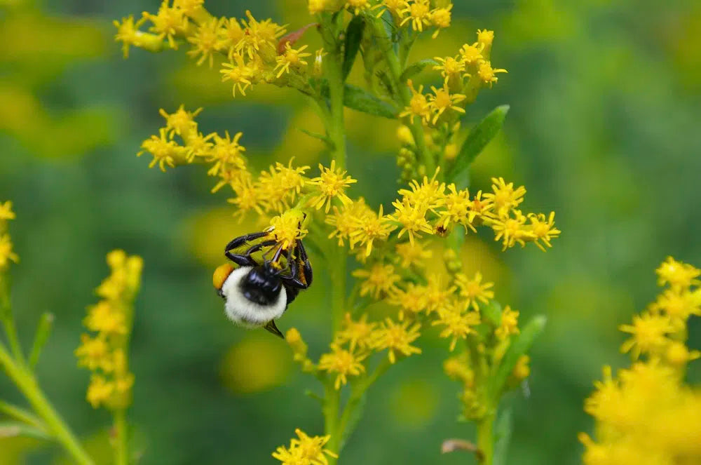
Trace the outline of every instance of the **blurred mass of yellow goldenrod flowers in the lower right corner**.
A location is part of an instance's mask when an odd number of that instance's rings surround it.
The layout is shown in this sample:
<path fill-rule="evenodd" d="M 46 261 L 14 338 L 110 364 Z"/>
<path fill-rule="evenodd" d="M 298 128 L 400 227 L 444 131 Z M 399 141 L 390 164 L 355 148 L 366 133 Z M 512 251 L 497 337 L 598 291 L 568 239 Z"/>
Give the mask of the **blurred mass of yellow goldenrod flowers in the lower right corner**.
<path fill-rule="evenodd" d="M 686 365 L 701 356 L 686 346 L 687 322 L 701 316 L 701 270 L 668 257 L 656 270 L 665 286 L 632 325 L 621 347 L 633 363 L 604 379 L 584 410 L 596 419 L 594 438 L 580 433 L 586 465 L 701 462 L 701 389 L 684 382 Z"/>

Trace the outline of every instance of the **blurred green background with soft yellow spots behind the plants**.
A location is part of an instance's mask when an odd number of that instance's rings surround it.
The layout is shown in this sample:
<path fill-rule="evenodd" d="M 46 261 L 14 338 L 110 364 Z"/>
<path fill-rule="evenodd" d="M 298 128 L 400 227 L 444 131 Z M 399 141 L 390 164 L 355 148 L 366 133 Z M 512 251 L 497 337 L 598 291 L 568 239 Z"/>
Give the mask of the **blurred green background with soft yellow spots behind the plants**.
<path fill-rule="evenodd" d="M 496 297 L 549 318 L 533 351 L 529 393 L 507 399 L 515 414 L 511 464 L 577 464 L 578 431 L 592 422 L 583 399 L 601 365 L 626 363 L 617 325 L 651 302 L 653 270 L 667 255 L 701 265 L 701 4 L 688 0 L 455 1 L 454 26 L 416 46 L 414 58 L 455 53 L 475 29 L 496 31 L 499 76 L 468 109 L 479 121 L 511 111 L 503 133 L 477 159 L 475 188 L 503 176 L 528 189 L 526 210 L 555 210 L 562 238 L 502 253 L 470 241 L 470 266 L 496 281 Z M 207 0 L 212 13 L 309 22 L 306 1 Z M 205 133 L 244 132 L 250 161 L 264 168 L 296 156 L 315 164 L 322 147 L 296 128 L 318 130 L 292 91 L 262 86 L 231 99 L 216 69 L 184 53 L 134 50 L 123 60 L 111 20 L 155 12 L 157 1 L 0 0 L 0 201 L 10 199 L 22 262 L 13 305 L 25 346 L 43 311 L 56 315 L 39 378 L 98 457 L 109 416 L 84 400 L 76 368 L 85 307 L 107 275 L 104 254 L 144 257 L 132 346 L 132 420 L 142 464 L 266 464 L 300 427 L 322 432 L 312 379 L 287 346 L 229 324 L 212 291 L 222 244 L 246 231 L 224 192 L 209 193 L 201 168 L 163 174 L 137 158 L 162 126 L 158 109 L 205 107 Z M 356 72 L 359 70 L 356 69 Z M 353 191 L 373 205 L 393 199 L 396 123 L 348 112 Z M 316 127 L 315 127 L 316 125 Z M 250 225 L 249 225 L 250 226 Z M 248 228 L 250 229 L 250 227 Z M 312 261 L 314 257 L 312 257 Z M 329 307 L 318 283 L 278 325 L 300 328 L 315 354 L 328 341 Z M 690 346 L 701 328 L 690 325 Z M 447 344 L 423 339 L 422 356 L 400 363 L 369 396 L 343 464 L 465 464 L 440 456 L 444 438 L 470 438 L 455 421 L 457 384 L 441 370 Z M 699 370 L 690 378 L 698 382 Z M 20 401 L 0 377 L 0 397 Z M 0 439 L 0 464 L 56 464 L 54 447 Z M 102 453 L 102 455 L 100 455 Z M 102 461 L 107 463 L 107 458 Z"/>

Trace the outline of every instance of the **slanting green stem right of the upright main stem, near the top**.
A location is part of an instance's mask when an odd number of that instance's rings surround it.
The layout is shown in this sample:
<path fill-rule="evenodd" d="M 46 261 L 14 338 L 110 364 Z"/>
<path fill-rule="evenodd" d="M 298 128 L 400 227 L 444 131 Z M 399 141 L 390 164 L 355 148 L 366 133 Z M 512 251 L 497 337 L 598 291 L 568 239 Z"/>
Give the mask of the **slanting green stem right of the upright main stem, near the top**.
<path fill-rule="evenodd" d="M 387 29 L 385 29 L 382 20 L 375 19 L 372 21 L 372 24 L 375 29 L 376 38 L 379 41 L 379 48 L 380 50 L 385 50 L 385 61 L 387 62 L 387 67 L 390 71 L 395 88 L 397 88 L 397 92 L 399 92 L 400 103 L 404 107 L 408 107 L 411 101 L 411 90 L 406 82 L 400 81 L 400 77 L 404 71 L 400 59 L 395 53 L 393 43 L 387 35 Z M 433 175 L 436 169 L 435 160 L 433 159 L 433 154 L 431 154 L 430 151 L 428 151 L 428 147 L 426 147 L 426 138 L 423 134 L 421 121 L 416 121 L 415 118 L 412 118 L 408 126 L 409 130 L 411 130 L 411 135 L 414 136 L 414 143 L 416 144 L 416 151 L 418 152 L 419 159 L 421 159 L 423 166 L 426 166 L 426 174 L 429 176 Z"/>

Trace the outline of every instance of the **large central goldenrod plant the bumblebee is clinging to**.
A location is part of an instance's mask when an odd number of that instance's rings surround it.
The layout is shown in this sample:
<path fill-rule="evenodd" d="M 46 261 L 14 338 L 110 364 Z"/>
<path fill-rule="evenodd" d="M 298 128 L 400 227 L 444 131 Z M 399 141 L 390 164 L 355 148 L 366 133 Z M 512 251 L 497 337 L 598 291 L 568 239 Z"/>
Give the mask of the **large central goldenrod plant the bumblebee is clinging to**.
<path fill-rule="evenodd" d="M 138 153 L 164 172 L 207 166 L 212 192 L 225 189 L 232 214 L 266 234 L 271 245 L 261 252 L 268 257 L 290 257 L 304 239 L 322 260 L 315 270 L 331 281 L 328 349 L 310 356 L 295 328 L 286 339 L 301 370 L 322 387 L 321 395 L 311 395 L 320 402 L 325 431 L 308 436 L 298 430 L 290 447 L 273 454 L 284 464 L 336 463 L 362 416 L 367 390 L 395 363 L 420 354 L 422 335 L 434 327 L 457 354 L 446 372 L 463 384 L 461 417 L 477 424 L 472 450 L 484 464 L 503 457 L 504 450 L 495 451 L 495 444 L 505 447 L 494 432 L 499 401 L 527 377 L 526 353 L 545 318 L 519 328 L 519 312 L 502 308 L 495 284 L 482 274 L 464 272 L 458 252 L 478 228 L 491 230 L 503 250 L 528 243 L 546 250 L 560 231 L 554 213 L 522 210 L 523 186 L 495 176 L 491 191 L 469 190 L 470 163 L 501 128 L 508 106 L 469 131 L 461 116 L 506 70 L 492 65 L 495 34 L 488 29 L 473 32 L 475 39 L 447 56 L 409 60 L 418 36 L 435 38 L 450 27 L 452 7 L 449 0 L 310 0 L 307 24 L 283 25 L 284 18 L 260 19 L 251 11 L 219 18 L 202 0 L 165 0 L 156 13 L 115 21 L 125 57 L 131 47 L 185 48 L 198 65 L 212 68 L 212 84 L 230 83 L 235 98 L 265 85 L 306 95 L 325 128 L 306 131 L 327 148 L 329 162 L 320 163 L 318 173 L 294 156 L 254 173 L 242 133 L 201 132 L 196 118 L 202 110 L 182 105 L 160 110 L 163 128 Z M 316 50 L 308 43 L 313 34 L 322 43 Z M 364 86 L 348 83 L 354 66 L 364 68 Z M 397 121 L 401 176 L 392 210 L 353 193 L 346 107 Z M 432 261 L 442 266 L 429 270 Z M 223 273 L 215 273 L 217 288 Z M 382 314 L 379 305 L 393 311 Z"/>

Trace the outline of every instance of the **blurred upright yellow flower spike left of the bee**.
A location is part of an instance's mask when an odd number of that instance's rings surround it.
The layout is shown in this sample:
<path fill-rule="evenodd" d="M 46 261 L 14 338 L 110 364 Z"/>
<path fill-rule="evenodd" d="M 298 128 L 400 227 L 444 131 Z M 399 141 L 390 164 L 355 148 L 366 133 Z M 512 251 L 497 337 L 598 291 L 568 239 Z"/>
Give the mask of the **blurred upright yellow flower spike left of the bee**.
<path fill-rule="evenodd" d="M 97 408 L 123 409 L 131 402 L 134 375 L 129 372 L 128 339 L 132 326 L 132 304 L 139 290 L 143 260 L 128 257 L 123 250 L 107 254 L 111 274 L 95 292 L 100 302 L 88 307 L 83 325 L 92 335 L 81 335 L 75 354 L 78 363 L 93 374 L 87 400 Z"/>

